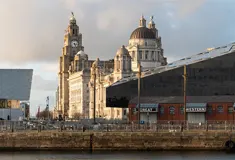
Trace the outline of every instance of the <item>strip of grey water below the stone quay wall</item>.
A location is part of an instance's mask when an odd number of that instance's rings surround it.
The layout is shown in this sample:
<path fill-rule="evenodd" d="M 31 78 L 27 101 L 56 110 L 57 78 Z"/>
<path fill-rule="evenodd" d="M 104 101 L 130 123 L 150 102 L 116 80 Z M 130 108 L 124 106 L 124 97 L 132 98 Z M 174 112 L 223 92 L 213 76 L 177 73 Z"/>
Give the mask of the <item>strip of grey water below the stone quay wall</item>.
<path fill-rule="evenodd" d="M 225 152 L 125 152 L 125 153 L 56 153 L 5 152 L 0 160 L 235 160 L 235 153 Z"/>

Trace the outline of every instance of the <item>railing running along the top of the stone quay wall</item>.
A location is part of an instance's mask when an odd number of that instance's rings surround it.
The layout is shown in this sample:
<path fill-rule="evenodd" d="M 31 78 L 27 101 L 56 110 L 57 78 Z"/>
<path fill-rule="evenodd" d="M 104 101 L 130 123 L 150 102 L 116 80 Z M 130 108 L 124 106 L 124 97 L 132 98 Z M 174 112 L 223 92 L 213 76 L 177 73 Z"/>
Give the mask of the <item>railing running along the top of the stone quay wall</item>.
<path fill-rule="evenodd" d="M 58 131 L 58 132 L 186 132 L 186 131 L 234 131 L 235 121 L 206 121 L 191 123 L 187 121 L 158 121 L 157 123 L 112 123 L 89 124 L 79 121 L 0 121 L 0 132 Z"/>

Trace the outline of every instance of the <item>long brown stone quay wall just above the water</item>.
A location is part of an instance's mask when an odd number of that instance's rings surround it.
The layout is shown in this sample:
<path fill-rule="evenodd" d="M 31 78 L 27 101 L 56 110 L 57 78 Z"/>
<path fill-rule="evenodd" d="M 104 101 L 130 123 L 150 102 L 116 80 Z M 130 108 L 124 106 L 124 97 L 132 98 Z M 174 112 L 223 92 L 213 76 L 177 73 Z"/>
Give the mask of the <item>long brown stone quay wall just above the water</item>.
<path fill-rule="evenodd" d="M 231 132 L 0 133 L 1 150 L 224 150 Z"/>

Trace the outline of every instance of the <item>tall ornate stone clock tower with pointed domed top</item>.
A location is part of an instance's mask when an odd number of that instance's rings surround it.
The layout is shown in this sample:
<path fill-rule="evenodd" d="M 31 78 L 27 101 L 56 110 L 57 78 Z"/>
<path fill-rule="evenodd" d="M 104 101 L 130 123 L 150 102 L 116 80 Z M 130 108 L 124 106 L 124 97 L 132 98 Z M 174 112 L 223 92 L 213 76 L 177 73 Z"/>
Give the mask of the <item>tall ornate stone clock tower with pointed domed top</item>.
<path fill-rule="evenodd" d="M 79 27 L 76 24 L 76 19 L 72 13 L 69 25 L 64 35 L 64 46 L 62 49 L 62 56 L 59 60 L 59 99 L 57 112 L 62 117 L 68 116 L 69 110 L 69 68 L 71 62 L 74 60 L 74 56 L 80 50 L 82 46 L 82 34 L 79 33 Z"/>

